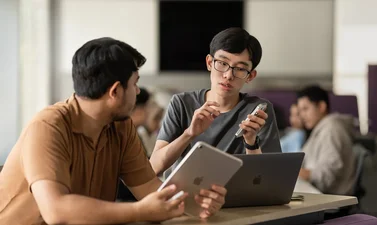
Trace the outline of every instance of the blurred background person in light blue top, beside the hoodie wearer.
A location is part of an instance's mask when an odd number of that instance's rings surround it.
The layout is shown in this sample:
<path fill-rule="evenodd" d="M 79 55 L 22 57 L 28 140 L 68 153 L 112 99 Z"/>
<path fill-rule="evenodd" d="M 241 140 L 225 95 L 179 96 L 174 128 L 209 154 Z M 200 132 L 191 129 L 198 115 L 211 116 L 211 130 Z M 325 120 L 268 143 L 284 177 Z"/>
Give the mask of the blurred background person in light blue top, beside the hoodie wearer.
<path fill-rule="evenodd" d="M 291 127 L 287 128 L 284 136 L 280 138 L 281 151 L 299 152 L 305 142 L 306 132 L 296 104 L 291 105 L 289 122 Z"/>

